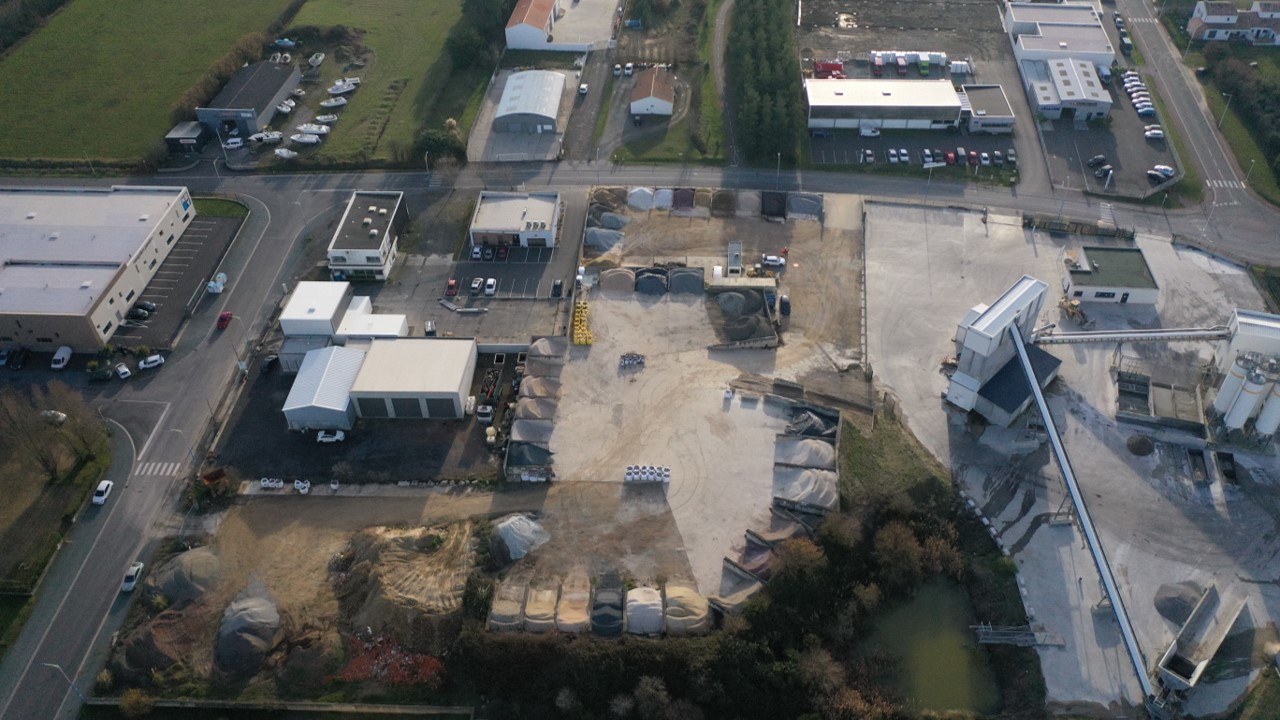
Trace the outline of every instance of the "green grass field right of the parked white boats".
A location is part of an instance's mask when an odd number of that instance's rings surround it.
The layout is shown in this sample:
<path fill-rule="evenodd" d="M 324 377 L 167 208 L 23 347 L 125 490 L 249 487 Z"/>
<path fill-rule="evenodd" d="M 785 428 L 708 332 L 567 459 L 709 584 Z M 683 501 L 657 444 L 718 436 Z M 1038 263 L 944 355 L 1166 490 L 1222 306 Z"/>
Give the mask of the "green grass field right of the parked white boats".
<path fill-rule="evenodd" d="M 440 118 L 436 104 L 442 96 L 456 106 L 456 114 L 445 117 L 461 115 L 474 85 L 448 87 L 454 73 L 444 51 L 444 41 L 461 17 L 458 3 L 442 1 L 311 0 L 303 5 L 294 26 L 356 28 L 362 31 L 360 44 L 372 51 L 366 67 L 346 73 L 361 76 L 362 85 L 316 156 L 339 163 L 394 160 L 413 146 L 424 123 Z M 326 61 L 324 69 L 326 79 L 343 74 L 337 61 Z M 320 88 L 310 91 L 307 105 L 323 95 Z"/>

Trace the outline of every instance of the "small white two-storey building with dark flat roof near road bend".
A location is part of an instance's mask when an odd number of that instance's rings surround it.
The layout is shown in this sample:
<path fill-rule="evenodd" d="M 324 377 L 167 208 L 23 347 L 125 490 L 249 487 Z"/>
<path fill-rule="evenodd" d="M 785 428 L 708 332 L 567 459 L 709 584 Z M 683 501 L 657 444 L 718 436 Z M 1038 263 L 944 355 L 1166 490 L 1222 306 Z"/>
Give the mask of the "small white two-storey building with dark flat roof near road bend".
<path fill-rule="evenodd" d="M 403 192 L 352 192 L 329 241 L 335 281 L 385 281 L 399 254 L 406 223 Z"/>

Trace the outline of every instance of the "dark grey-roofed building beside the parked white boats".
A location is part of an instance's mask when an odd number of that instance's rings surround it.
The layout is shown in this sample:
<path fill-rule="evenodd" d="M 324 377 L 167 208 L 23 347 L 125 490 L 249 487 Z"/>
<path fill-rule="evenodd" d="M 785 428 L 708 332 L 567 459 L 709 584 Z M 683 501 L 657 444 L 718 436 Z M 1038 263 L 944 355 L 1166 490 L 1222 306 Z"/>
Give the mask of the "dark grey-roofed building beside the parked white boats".
<path fill-rule="evenodd" d="M 248 138 L 275 119 L 275 106 L 288 99 L 302 73 L 297 65 L 262 60 L 244 65 L 209 105 L 196 108 L 196 119 L 219 141 L 229 136 Z"/>

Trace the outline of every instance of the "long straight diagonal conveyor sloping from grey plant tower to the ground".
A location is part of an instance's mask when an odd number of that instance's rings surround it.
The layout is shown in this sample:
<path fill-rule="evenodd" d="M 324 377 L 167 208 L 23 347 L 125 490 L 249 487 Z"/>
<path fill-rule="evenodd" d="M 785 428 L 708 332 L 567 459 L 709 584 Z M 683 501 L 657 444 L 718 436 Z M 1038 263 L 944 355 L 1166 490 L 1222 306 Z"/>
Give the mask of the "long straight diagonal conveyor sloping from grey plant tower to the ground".
<path fill-rule="evenodd" d="M 1057 465 L 1062 470 L 1062 479 L 1066 482 L 1066 491 L 1071 496 L 1071 505 L 1075 507 L 1075 516 L 1079 519 L 1080 529 L 1084 532 L 1084 539 L 1089 546 L 1089 553 L 1093 555 L 1093 565 L 1097 568 L 1098 575 L 1102 578 L 1102 587 L 1107 593 L 1107 600 L 1111 601 L 1111 609 L 1115 612 L 1116 623 L 1120 625 L 1120 635 L 1124 639 L 1125 650 L 1129 652 L 1129 661 L 1133 664 L 1133 671 L 1137 673 L 1138 683 L 1142 685 L 1143 698 L 1151 698 L 1155 694 L 1155 688 L 1151 678 L 1147 675 L 1147 664 L 1142 657 L 1142 648 L 1138 647 L 1138 637 L 1134 634 L 1133 625 L 1129 623 L 1129 612 L 1125 610 L 1124 598 L 1120 597 L 1120 588 L 1116 585 L 1115 575 L 1111 574 L 1111 565 L 1107 562 L 1106 552 L 1102 550 L 1102 541 L 1098 539 L 1098 533 L 1093 528 L 1093 519 L 1089 518 L 1089 509 L 1084 505 L 1084 496 L 1080 492 L 1080 486 L 1075 482 L 1075 471 L 1071 469 L 1071 461 L 1066 456 L 1066 448 L 1062 446 L 1062 437 L 1059 434 L 1057 425 L 1053 423 L 1053 415 L 1048 411 L 1048 402 L 1044 401 L 1044 393 L 1041 391 L 1039 383 L 1036 382 L 1036 372 L 1032 368 L 1030 357 L 1027 355 L 1027 346 L 1023 342 L 1021 331 L 1018 329 L 1018 323 L 1009 324 L 1009 333 L 1014 338 L 1014 347 L 1018 350 L 1018 359 L 1021 361 L 1023 372 L 1027 373 L 1027 383 L 1032 387 L 1032 395 L 1036 397 L 1036 406 L 1039 409 L 1041 418 L 1044 421 L 1044 430 L 1048 433 L 1050 445 L 1053 448 L 1053 457 L 1057 459 Z M 1102 333 L 1073 334 L 1097 336 Z"/>

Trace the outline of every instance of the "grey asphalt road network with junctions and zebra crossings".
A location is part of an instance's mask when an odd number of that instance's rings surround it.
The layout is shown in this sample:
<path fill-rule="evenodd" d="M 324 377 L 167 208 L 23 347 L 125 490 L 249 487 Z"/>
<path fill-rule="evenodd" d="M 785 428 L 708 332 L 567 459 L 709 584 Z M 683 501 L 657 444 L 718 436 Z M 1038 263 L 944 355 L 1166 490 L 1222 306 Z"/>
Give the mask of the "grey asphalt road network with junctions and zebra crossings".
<path fill-rule="evenodd" d="M 1149 15 L 1139 0 L 1121 0 L 1130 17 Z M 1134 23 L 1148 63 L 1160 78 L 1175 122 L 1189 138 L 1192 161 L 1210 186 L 1211 202 L 1192 210 L 1169 210 L 1115 202 L 1116 222 L 1139 232 L 1203 237 L 1236 256 L 1280 265 L 1280 213 L 1239 187 L 1243 179 L 1213 132 L 1215 118 L 1199 96 L 1198 83 L 1180 63 L 1164 32 L 1153 23 Z M 596 65 L 602 65 L 596 63 Z M 603 78 L 602 78 L 603 79 Z M 1019 188 L 970 187 L 914 178 L 864 177 L 849 173 L 769 169 L 644 167 L 582 161 L 532 163 L 500 169 L 468 167 L 443 179 L 457 190 L 508 188 L 524 184 L 566 192 L 564 238 L 580 237 L 586 210 L 581 190 L 593 184 L 698 186 L 772 188 L 863 193 L 874 197 L 1009 208 L 1096 220 L 1101 206 L 1080 192 L 1050 190 L 1028 193 Z M 603 165 L 603 167 L 602 167 Z M 182 470 L 195 460 L 211 409 L 237 388 L 237 361 L 262 331 L 271 307 L 283 296 L 280 283 L 291 277 L 305 238 L 320 232 L 332 210 L 352 190 L 402 190 L 413 208 L 439 193 L 428 193 L 426 173 L 243 176 L 220 163 L 204 163 L 189 174 L 105 179 L 99 184 L 186 184 L 193 192 L 221 192 L 241 197 L 252 215 L 225 260 L 230 284 L 206 300 L 179 338 L 163 372 L 148 383 L 124 387 L 105 401 L 105 416 L 119 423 L 115 436 L 118 487 L 105 507 L 87 510 L 59 555 L 41 591 L 40 602 L 22 635 L 0 664 L 0 717 L 36 720 L 73 717 L 78 702 L 56 664 L 81 688 L 105 660 L 111 633 L 124 618 L 128 598 L 119 593 L 120 577 L 134 557 L 146 556 L 156 539 L 178 529 L 173 521 L 182 488 Z M 1219 182 L 1215 182 L 1219 181 Z M 1230 181 L 1230 182 L 1229 182 Z M 4 184 L 92 184 L 84 179 L 0 179 Z M 214 329 L 223 311 L 236 314 L 224 332 Z"/>

